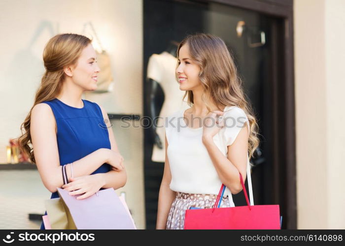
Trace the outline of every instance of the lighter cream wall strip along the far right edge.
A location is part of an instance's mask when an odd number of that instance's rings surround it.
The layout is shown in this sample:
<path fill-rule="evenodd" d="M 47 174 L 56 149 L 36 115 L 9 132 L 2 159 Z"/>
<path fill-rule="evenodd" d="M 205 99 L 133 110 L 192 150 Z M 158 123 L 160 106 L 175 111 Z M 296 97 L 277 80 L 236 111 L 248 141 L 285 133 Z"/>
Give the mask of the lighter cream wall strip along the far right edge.
<path fill-rule="evenodd" d="M 325 1 L 328 228 L 345 229 L 345 1 Z"/>

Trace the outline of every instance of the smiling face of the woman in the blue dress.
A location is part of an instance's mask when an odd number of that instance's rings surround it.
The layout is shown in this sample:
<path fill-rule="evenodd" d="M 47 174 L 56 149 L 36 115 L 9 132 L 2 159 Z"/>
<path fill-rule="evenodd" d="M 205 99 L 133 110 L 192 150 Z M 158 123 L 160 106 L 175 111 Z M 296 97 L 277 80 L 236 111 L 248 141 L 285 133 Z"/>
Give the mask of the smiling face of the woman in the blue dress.
<path fill-rule="evenodd" d="M 65 70 L 65 72 L 72 78 L 73 83 L 81 87 L 83 91 L 97 89 L 97 75 L 100 72 L 100 67 L 97 64 L 96 51 L 91 44 L 83 49 L 76 66 L 71 68 L 71 71 Z"/>

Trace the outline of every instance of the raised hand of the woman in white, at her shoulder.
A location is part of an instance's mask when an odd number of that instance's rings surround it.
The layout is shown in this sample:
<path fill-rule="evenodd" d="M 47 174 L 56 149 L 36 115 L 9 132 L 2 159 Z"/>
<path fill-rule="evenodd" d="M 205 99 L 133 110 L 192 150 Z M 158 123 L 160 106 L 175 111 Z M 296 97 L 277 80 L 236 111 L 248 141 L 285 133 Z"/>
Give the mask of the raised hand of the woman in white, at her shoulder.
<path fill-rule="evenodd" d="M 203 143 L 213 141 L 213 136 L 224 126 L 224 120 L 219 119 L 220 116 L 223 116 L 223 112 L 219 110 L 210 112 L 207 115 L 203 131 Z"/>

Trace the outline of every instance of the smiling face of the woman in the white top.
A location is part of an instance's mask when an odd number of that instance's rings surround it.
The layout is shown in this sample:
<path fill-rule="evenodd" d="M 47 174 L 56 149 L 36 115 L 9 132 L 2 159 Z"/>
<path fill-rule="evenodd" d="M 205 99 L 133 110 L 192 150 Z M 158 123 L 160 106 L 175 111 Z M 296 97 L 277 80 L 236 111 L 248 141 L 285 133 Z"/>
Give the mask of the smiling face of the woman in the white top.
<path fill-rule="evenodd" d="M 178 52 L 178 66 L 176 68 L 180 90 L 202 89 L 199 72 L 200 67 L 190 57 L 188 44 L 184 44 Z"/>

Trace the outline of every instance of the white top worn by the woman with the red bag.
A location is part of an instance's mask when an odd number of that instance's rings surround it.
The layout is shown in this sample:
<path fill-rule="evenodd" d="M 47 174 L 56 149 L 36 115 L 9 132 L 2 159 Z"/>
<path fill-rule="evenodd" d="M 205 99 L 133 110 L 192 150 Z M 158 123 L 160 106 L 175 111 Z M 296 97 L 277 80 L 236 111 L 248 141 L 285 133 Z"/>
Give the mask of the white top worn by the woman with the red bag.
<path fill-rule="evenodd" d="M 239 107 L 227 106 L 224 112 L 225 126 L 213 137 L 213 141 L 219 150 L 227 156 L 227 146 L 234 143 L 244 123 L 247 123 L 249 131 L 249 122 L 244 111 Z M 170 188 L 173 191 L 184 193 L 217 195 L 222 182 L 202 142 L 203 127 L 188 127 L 183 120 L 183 114 L 184 110 L 180 110 L 166 118 L 165 122 L 168 141 L 167 155 L 172 174 Z M 247 160 L 250 203 L 253 203 L 249 158 Z M 235 206 L 229 189 L 224 192 L 224 196 L 227 195 L 230 205 Z"/>

